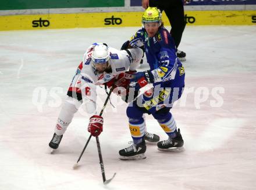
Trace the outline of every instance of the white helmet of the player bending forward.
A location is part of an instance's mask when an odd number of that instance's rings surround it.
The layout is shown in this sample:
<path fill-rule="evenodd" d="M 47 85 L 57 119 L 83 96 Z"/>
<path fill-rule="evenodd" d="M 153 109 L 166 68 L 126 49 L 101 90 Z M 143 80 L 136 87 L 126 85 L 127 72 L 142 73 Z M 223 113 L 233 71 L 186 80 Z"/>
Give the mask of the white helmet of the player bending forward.
<path fill-rule="evenodd" d="M 93 49 L 91 60 L 94 64 L 104 64 L 108 62 L 110 58 L 110 52 L 108 46 L 105 43 L 97 43 Z"/>

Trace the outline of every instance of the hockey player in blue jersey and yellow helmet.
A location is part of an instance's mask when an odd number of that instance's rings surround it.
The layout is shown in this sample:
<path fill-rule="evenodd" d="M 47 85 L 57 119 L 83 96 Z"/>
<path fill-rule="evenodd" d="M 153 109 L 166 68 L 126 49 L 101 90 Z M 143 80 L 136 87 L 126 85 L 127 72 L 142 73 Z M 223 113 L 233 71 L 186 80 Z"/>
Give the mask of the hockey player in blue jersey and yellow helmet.
<path fill-rule="evenodd" d="M 151 88 L 134 99 L 128 107 L 127 117 L 133 144 L 119 151 L 120 159 L 145 158 L 144 140 L 145 120 L 143 114 L 152 114 L 168 135 L 167 140 L 159 141 L 160 151 L 179 151 L 183 147 L 180 129 L 170 113 L 173 103 L 182 96 L 185 72 L 182 63 L 177 59 L 175 42 L 168 30 L 163 27 L 162 14 L 159 9 L 149 7 L 143 14 L 143 28 L 138 30 L 130 41 L 121 49 L 141 47 L 144 45 L 150 70 L 137 72 L 130 83 L 135 92 L 151 85 Z M 142 89 L 143 88 L 143 89 Z M 129 100 L 128 100 L 129 101 Z"/>

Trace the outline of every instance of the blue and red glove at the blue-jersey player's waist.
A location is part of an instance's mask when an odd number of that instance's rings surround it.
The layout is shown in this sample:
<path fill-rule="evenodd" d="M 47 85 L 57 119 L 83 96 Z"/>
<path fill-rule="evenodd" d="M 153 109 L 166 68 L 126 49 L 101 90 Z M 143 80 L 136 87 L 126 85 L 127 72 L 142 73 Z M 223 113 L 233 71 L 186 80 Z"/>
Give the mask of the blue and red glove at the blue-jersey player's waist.
<path fill-rule="evenodd" d="M 139 90 L 141 87 L 146 86 L 149 82 L 154 83 L 154 76 L 150 70 L 147 70 L 134 74 L 129 86 L 134 87 L 135 90 Z"/>

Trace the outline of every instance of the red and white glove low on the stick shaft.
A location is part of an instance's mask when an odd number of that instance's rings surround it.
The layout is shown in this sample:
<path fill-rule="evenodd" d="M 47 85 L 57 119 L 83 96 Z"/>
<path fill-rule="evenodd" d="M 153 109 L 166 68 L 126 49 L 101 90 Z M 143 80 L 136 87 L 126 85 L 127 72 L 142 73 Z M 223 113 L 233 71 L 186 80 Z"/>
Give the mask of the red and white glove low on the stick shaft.
<path fill-rule="evenodd" d="M 103 118 L 99 115 L 93 115 L 90 118 L 90 122 L 88 125 L 88 132 L 91 133 L 92 136 L 98 137 L 103 130 Z"/>

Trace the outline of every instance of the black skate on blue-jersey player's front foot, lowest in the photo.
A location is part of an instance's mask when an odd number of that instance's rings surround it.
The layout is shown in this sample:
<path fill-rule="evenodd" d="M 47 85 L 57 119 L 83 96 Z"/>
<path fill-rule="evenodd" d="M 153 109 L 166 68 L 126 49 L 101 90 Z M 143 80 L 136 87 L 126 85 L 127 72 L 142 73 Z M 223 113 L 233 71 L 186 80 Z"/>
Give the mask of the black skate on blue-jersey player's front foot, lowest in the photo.
<path fill-rule="evenodd" d="M 144 155 L 147 147 L 145 141 L 140 144 L 132 144 L 130 147 L 124 148 L 119 151 L 121 160 L 136 160 L 136 159 L 145 159 Z"/>

